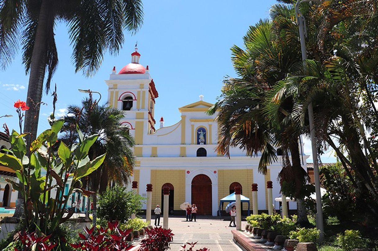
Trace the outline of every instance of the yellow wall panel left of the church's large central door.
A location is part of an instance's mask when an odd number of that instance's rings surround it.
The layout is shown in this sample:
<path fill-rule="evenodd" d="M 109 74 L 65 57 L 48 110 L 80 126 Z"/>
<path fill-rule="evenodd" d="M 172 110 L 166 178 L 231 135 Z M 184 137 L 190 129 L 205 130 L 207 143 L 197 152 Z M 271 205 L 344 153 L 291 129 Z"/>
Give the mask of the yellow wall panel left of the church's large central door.
<path fill-rule="evenodd" d="M 151 170 L 152 207 L 161 204 L 161 190 L 166 183 L 174 187 L 174 210 L 180 210 L 185 202 L 185 170 Z"/>

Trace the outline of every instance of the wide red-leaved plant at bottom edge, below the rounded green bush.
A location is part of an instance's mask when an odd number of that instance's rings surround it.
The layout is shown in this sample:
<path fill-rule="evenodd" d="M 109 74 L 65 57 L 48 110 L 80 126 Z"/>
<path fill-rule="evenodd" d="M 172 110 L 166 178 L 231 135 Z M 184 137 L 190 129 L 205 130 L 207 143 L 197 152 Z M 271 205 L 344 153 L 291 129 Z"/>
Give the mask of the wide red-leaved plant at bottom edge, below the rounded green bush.
<path fill-rule="evenodd" d="M 74 250 L 80 251 L 120 251 L 129 250 L 132 246 L 128 244 L 127 235 L 132 229 L 122 231 L 118 222 L 108 222 L 107 228 L 85 228 L 87 236 L 79 233 L 81 240 L 78 243 L 70 244 Z"/>

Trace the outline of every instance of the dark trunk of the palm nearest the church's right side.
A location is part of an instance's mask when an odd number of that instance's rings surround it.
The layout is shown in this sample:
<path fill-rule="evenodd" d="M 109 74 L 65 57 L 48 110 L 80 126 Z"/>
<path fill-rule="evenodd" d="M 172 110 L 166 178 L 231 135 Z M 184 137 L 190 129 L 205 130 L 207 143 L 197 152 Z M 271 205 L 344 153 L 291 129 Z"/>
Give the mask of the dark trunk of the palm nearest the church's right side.
<path fill-rule="evenodd" d="M 295 183 L 295 198 L 297 200 L 297 223 L 301 225 L 309 224 L 307 218 L 307 210 L 304 204 L 304 197 L 301 195 L 301 191 L 304 185 L 305 170 L 303 170 L 301 165 L 301 156 L 299 155 L 299 145 L 298 138 L 293 138 L 290 142 L 290 152 L 291 152 L 291 167 L 294 175 Z"/>

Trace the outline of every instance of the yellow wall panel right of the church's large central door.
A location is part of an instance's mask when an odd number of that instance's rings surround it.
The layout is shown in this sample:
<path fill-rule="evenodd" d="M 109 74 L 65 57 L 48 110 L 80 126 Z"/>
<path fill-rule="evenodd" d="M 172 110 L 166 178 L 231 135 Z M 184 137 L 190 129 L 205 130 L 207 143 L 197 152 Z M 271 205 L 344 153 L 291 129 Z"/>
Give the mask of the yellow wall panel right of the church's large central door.
<path fill-rule="evenodd" d="M 252 209 L 252 189 L 253 170 L 249 169 L 235 169 L 235 170 L 218 170 L 218 201 L 223 197 L 229 195 L 230 185 L 233 182 L 239 182 L 242 185 L 242 193 L 248 197 Z M 243 203 L 243 210 L 248 210 L 248 205 Z"/>

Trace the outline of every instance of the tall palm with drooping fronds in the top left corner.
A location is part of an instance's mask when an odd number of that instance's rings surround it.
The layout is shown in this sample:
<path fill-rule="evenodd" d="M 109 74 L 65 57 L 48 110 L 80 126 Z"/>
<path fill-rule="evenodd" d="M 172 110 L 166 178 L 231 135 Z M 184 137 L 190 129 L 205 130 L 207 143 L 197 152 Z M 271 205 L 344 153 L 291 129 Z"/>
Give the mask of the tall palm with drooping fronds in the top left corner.
<path fill-rule="evenodd" d="M 36 138 L 43 81 L 45 90 L 56 70 L 58 55 L 54 28 L 57 22 L 68 26 L 73 45 L 76 72 L 93 75 L 105 52 L 117 54 L 124 42 L 124 29 L 136 32 L 143 23 L 141 0 L 6 0 L 0 3 L 0 63 L 10 64 L 21 41 L 23 64 L 30 73 L 24 131 L 28 141 Z M 22 197 L 22 196 L 21 196 Z M 21 216 L 19 196 L 14 216 Z"/>

